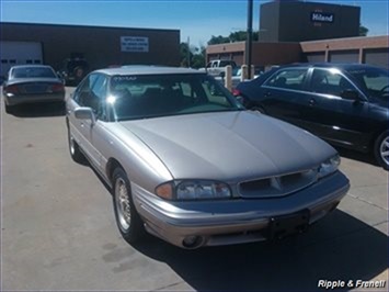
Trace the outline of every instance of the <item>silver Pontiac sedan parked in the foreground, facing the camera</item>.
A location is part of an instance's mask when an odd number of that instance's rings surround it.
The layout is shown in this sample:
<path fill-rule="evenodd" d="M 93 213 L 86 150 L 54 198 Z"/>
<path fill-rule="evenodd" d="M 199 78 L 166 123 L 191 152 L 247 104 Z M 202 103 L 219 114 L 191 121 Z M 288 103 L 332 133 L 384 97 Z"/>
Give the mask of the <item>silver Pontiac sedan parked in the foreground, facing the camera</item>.
<path fill-rule="evenodd" d="M 70 155 L 87 157 L 112 188 L 128 243 L 145 228 L 182 248 L 282 238 L 334 210 L 350 188 L 330 145 L 244 111 L 198 70 L 96 70 L 66 112 Z"/>

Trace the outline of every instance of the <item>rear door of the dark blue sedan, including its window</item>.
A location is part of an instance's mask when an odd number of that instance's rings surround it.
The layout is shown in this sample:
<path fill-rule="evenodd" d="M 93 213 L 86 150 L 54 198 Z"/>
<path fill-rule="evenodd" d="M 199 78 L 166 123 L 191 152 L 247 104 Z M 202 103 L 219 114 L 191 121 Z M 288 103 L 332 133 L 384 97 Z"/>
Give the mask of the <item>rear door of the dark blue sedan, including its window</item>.
<path fill-rule="evenodd" d="M 261 88 L 261 106 L 266 114 L 306 127 L 308 68 L 290 67 L 276 71 Z"/>

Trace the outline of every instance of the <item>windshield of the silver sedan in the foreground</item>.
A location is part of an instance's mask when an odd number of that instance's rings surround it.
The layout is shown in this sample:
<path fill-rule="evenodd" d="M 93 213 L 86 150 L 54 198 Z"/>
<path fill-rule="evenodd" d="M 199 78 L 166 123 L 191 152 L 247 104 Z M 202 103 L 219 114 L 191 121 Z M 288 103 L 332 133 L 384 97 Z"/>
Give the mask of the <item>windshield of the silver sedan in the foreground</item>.
<path fill-rule="evenodd" d="M 115 121 L 243 109 L 207 75 L 114 76 L 110 88 Z"/>

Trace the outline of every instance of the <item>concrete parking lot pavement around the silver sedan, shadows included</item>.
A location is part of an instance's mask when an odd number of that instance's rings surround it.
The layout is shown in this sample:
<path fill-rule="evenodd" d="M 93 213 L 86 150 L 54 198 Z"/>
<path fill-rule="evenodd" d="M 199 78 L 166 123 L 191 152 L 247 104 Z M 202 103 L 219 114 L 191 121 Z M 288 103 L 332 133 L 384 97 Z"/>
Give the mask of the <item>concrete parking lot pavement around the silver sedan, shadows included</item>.
<path fill-rule="evenodd" d="M 130 246 L 110 190 L 69 156 L 64 109 L 34 104 L 10 115 L 1 100 L 1 290 L 311 291 L 324 290 L 320 280 L 353 281 L 345 289 L 387 281 L 388 172 L 340 150 L 351 190 L 307 234 L 198 250 L 151 236 Z"/>

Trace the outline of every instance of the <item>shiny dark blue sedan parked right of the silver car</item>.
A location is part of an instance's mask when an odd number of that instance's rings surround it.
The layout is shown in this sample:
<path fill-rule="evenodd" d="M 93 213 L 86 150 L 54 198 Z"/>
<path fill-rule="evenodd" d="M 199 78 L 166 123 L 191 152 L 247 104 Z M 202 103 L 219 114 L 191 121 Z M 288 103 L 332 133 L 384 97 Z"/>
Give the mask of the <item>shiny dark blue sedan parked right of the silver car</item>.
<path fill-rule="evenodd" d="M 241 82 L 249 109 L 284 120 L 333 145 L 370 151 L 389 167 L 388 70 L 361 64 L 300 64 Z"/>

